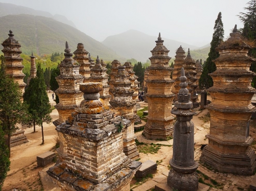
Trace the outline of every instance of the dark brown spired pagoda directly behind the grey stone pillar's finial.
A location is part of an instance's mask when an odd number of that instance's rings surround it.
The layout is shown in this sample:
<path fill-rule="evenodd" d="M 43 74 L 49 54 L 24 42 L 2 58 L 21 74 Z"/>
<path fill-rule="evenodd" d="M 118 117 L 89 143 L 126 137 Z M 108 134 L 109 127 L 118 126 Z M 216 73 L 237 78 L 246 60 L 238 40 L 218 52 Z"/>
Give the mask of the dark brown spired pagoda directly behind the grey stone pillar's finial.
<path fill-rule="evenodd" d="M 185 76 L 188 79 L 188 91 L 191 94 L 190 100 L 193 103 L 193 107 L 197 108 L 199 107 L 199 103 L 197 102 L 197 94 L 195 89 L 197 89 L 198 84 L 197 84 L 197 72 L 196 67 L 195 67 L 195 61 L 192 59 L 191 55 L 190 55 L 190 51 L 188 48 L 188 55 L 184 60 L 184 70 L 185 72 Z"/>

